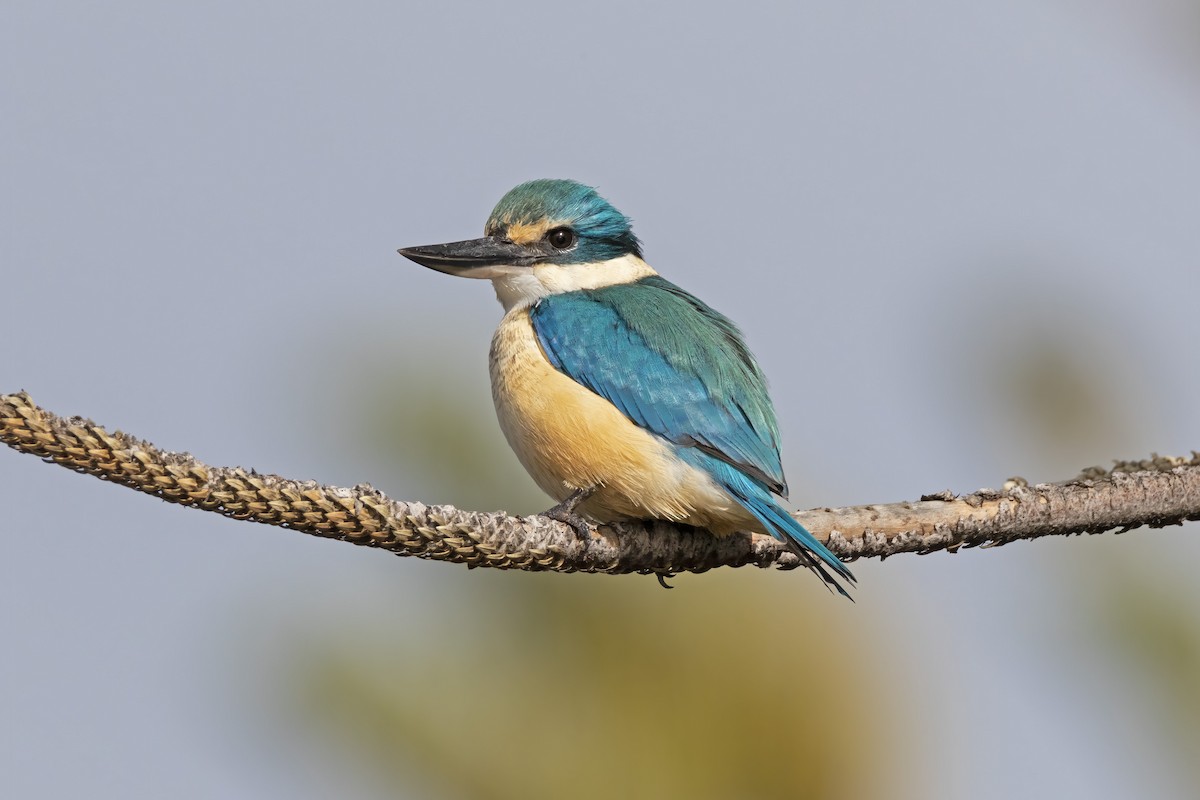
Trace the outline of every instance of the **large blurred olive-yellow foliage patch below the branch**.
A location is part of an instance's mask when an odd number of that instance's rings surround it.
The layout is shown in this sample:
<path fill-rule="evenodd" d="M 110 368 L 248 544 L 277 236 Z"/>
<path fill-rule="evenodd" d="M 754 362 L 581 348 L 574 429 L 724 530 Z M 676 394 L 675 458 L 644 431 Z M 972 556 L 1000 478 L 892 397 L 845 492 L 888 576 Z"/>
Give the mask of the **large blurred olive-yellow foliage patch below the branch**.
<path fill-rule="evenodd" d="M 397 786 L 419 770 L 446 796 L 872 796 L 900 766 L 886 655 L 786 577 L 503 576 L 444 643 L 308 650 L 301 694 Z"/>

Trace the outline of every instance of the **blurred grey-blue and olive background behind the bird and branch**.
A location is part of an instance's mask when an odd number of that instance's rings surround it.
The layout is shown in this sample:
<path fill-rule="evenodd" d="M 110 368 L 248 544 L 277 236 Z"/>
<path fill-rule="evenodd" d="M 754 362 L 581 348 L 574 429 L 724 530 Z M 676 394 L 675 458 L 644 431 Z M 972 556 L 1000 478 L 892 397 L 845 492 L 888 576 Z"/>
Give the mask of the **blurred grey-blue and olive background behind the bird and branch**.
<path fill-rule="evenodd" d="M 1200 447 L 1200 4 L 7 4 L 0 391 L 528 513 L 491 288 L 569 176 L 739 320 L 798 507 Z M 468 572 L 0 452 L 10 798 L 1200 794 L 1200 530 Z"/>

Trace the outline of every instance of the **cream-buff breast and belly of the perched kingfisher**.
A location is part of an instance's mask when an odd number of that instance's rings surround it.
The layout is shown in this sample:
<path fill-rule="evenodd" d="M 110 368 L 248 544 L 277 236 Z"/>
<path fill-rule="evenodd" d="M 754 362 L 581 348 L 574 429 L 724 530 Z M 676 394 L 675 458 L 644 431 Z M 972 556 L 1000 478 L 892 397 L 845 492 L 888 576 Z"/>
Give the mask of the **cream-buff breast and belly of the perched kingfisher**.
<path fill-rule="evenodd" d="M 671 445 L 554 369 L 517 306 L 492 338 L 492 398 L 509 445 L 556 500 L 598 487 L 580 510 L 600 521 L 671 519 L 719 534 L 757 521 Z"/>

